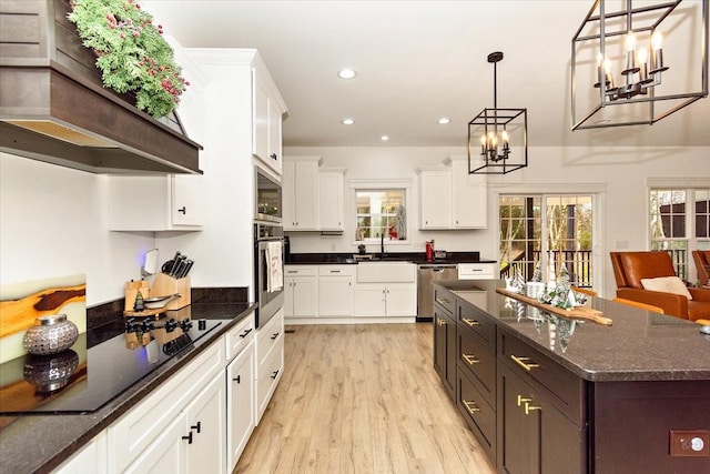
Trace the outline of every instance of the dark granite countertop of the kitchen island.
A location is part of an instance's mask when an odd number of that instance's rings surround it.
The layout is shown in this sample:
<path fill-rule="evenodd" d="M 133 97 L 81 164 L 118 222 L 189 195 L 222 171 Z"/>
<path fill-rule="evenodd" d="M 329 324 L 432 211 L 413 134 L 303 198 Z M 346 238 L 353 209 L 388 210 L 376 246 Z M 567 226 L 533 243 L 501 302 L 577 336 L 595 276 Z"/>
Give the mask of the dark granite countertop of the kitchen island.
<path fill-rule="evenodd" d="M 486 293 L 486 313 L 545 355 L 591 382 L 710 380 L 710 335 L 679 317 L 591 297 L 611 326 L 549 316 L 496 293 L 503 281 L 437 281 L 454 293 Z M 481 295 L 478 295 L 483 299 Z M 520 307 L 518 307 L 518 304 Z M 483 307 L 481 307 L 483 309 Z"/>

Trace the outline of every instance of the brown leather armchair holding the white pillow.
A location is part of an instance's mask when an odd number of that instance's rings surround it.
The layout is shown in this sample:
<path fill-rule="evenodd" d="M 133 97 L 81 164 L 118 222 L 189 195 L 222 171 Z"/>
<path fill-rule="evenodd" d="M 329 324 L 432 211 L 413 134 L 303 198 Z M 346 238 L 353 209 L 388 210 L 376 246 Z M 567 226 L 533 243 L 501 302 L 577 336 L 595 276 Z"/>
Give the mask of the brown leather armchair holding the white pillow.
<path fill-rule="evenodd" d="M 692 300 L 688 300 L 680 294 L 643 289 L 642 279 L 676 275 L 668 252 L 610 252 L 610 255 L 618 297 L 652 304 L 684 320 L 710 319 L 710 290 L 689 288 Z"/>

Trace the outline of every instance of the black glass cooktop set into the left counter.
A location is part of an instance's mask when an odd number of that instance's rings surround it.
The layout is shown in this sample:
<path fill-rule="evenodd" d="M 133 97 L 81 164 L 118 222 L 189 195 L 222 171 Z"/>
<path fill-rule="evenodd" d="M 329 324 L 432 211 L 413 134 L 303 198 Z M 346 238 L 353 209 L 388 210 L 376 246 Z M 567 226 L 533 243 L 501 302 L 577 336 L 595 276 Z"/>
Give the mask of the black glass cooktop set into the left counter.
<path fill-rule="evenodd" d="M 0 365 L 0 413 L 88 413 L 189 347 L 220 320 L 153 322 L 145 335 L 135 325 L 81 334 L 69 350 L 54 355 L 23 355 Z M 123 331 L 123 332 L 121 332 Z M 119 335 L 115 335 L 120 333 Z"/>

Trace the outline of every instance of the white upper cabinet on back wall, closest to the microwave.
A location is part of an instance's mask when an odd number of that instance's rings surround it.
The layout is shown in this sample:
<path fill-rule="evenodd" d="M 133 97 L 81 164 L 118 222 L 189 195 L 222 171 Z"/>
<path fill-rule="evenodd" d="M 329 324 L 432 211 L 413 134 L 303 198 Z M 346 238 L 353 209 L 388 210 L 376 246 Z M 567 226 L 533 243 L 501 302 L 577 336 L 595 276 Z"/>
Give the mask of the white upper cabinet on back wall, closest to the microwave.
<path fill-rule="evenodd" d="M 286 157 L 283 162 L 285 231 L 317 231 L 320 157 Z"/>

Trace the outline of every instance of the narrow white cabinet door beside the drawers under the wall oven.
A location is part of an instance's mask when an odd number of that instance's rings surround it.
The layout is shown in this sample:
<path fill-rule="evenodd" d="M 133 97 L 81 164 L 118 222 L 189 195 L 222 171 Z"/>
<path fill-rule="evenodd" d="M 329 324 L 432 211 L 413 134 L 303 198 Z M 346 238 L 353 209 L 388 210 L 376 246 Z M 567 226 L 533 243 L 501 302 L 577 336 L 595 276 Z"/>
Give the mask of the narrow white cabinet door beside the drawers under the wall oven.
<path fill-rule="evenodd" d="M 226 367 L 227 472 L 232 472 L 256 425 L 253 341 Z"/>

